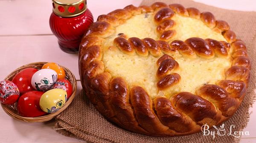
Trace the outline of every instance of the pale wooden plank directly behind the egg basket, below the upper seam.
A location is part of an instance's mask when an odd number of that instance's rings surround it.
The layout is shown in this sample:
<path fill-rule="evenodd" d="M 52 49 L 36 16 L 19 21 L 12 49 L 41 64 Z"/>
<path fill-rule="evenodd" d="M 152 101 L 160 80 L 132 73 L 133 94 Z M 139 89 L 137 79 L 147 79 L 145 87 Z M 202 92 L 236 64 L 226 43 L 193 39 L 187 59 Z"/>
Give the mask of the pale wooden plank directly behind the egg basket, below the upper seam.
<path fill-rule="evenodd" d="M 1 68 L 0 79 L 24 64 L 31 62 L 56 62 L 69 68 L 76 79 L 78 73 L 78 54 L 68 54 L 60 50 L 54 35 L 44 36 L 0 36 Z"/>

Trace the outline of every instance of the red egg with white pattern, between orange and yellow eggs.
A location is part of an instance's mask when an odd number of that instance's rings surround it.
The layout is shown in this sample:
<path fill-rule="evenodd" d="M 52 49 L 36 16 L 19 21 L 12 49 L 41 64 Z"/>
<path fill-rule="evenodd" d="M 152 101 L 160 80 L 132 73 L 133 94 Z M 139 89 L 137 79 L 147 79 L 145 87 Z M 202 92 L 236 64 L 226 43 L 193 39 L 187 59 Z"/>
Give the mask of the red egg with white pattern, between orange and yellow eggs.
<path fill-rule="evenodd" d="M 59 89 L 65 90 L 67 92 L 67 99 L 70 98 L 70 96 L 73 93 L 72 84 L 67 79 L 58 80 L 54 84 L 53 88 L 59 88 Z"/>

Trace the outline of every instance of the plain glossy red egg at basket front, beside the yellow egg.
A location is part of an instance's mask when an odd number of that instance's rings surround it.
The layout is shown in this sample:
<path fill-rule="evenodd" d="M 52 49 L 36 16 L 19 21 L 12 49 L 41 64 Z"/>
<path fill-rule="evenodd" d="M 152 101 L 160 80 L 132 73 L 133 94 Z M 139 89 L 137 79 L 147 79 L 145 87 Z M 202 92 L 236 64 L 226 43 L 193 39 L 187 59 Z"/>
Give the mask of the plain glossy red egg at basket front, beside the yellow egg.
<path fill-rule="evenodd" d="M 39 101 L 44 92 L 29 91 L 20 96 L 17 109 L 18 113 L 23 117 L 39 117 L 46 115 L 39 105 Z"/>

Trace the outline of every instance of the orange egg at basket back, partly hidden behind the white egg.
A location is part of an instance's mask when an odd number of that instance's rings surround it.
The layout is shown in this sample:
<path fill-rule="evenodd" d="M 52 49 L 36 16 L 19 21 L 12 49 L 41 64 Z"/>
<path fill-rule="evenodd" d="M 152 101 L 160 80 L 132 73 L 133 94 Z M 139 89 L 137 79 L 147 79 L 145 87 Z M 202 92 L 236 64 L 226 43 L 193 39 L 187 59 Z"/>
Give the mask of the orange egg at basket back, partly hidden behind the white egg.
<path fill-rule="evenodd" d="M 52 69 L 55 70 L 55 72 L 58 74 L 58 80 L 64 79 L 66 77 L 65 70 L 63 67 L 59 66 L 58 64 L 54 62 L 48 62 L 43 65 L 42 69 Z"/>

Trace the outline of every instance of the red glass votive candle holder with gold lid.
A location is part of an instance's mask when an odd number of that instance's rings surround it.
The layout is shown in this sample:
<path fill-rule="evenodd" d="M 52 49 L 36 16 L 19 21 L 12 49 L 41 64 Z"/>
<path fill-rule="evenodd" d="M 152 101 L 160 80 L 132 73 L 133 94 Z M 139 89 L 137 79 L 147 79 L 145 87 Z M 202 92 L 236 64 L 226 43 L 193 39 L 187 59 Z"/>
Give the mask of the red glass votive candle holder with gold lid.
<path fill-rule="evenodd" d="M 52 0 L 50 28 L 66 53 L 78 53 L 84 32 L 93 23 L 86 0 Z"/>

